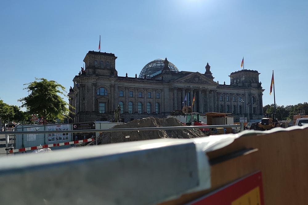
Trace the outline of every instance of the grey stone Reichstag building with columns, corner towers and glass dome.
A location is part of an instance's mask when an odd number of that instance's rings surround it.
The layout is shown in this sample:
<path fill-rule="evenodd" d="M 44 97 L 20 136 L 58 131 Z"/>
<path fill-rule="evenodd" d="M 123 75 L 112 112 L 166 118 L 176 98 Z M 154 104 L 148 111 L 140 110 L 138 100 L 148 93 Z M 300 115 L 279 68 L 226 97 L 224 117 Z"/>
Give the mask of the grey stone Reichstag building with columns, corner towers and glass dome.
<path fill-rule="evenodd" d="M 232 72 L 228 85 L 214 81 L 209 63 L 204 73 L 180 71 L 165 59 L 146 64 L 135 77 L 118 76 L 112 53 L 89 51 L 83 61 L 85 69 L 73 78 L 74 86 L 68 94 L 72 121 L 113 120 L 115 108 L 120 105 L 121 119 L 154 116 L 164 118 L 171 111 L 192 105 L 200 113 L 231 113 L 238 121 L 244 113 L 250 119 L 263 116 L 262 92 L 257 70 Z M 244 101 L 244 102 L 242 102 Z M 246 105 L 246 103 L 250 105 Z"/>

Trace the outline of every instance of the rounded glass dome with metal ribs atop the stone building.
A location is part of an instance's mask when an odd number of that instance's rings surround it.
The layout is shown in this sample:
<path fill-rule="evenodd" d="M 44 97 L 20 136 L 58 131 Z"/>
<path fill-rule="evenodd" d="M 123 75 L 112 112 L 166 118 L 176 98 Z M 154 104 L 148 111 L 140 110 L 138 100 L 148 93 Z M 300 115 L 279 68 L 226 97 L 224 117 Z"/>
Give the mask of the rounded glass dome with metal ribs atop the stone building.
<path fill-rule="evenodd" d="M 164 69 L 164 61 L 165 61 L 165 59 L 160 58 L 160 59 L 155 59 L 155 60 L 149 62 L 140 71 L 139 78 L 144 78 L 144 75 L 146 75 L 147 78 L 151 78 L 151 77 L 153 77 L 152 74 L 160 73 L 158 71 L 161 71 L 161 70 Z M 168 62 L 168 67 L 172 71 L 179 71 L 177 69 L 177 67 L 172 62 Z"/>

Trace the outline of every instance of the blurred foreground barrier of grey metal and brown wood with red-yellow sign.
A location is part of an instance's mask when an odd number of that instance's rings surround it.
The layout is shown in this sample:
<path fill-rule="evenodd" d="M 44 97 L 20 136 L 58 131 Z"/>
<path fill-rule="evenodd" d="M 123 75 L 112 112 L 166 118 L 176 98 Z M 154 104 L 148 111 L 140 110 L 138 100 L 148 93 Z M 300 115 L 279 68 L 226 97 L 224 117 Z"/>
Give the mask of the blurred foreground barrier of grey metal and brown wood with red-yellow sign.
<path fill-rule="evenodd" d="M 3 204 L 223 204 L 222 198 L 307 204 L 307 131 L 308 125 L 294 126 L 2 158 L 0 198 Z"/>

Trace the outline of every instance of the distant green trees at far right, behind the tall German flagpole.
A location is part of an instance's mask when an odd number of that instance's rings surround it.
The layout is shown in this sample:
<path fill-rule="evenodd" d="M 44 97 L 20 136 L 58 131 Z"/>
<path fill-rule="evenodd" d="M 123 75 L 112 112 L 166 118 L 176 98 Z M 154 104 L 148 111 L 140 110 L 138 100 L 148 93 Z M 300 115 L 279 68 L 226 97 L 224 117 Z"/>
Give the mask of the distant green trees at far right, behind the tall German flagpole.
<path fill-rule="evenodd" d="M 277 106 L 276 113 L 279 120 L 293 119 L 293 115 L 298 115 L 300 110 L 304 110 L 308 114 L 308 103 L 298 103 L 297 105 Z M 274 104 L 265 105 L 263 112 L 274 112 Z"/>

